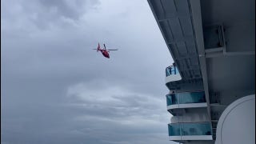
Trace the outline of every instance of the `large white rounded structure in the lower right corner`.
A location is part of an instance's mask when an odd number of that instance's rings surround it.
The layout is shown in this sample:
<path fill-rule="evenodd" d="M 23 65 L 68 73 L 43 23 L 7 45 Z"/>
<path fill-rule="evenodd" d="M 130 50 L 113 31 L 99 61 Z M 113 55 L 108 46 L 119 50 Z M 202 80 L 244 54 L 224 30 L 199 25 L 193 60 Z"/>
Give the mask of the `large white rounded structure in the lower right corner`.
<path fill-rule="evenodd" d="M 232 102 L 218 121 L 215 144 L 255 143 L 255 94 Z"/>

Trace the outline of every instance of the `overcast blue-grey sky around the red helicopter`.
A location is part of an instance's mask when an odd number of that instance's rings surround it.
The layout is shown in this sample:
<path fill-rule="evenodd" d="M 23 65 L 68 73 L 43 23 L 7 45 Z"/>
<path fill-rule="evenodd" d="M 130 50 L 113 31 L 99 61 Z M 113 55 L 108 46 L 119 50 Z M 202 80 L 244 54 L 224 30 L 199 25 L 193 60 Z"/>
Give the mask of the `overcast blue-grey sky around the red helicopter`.
<path fill-rule="evenodd" d="M 1 144 L 174 143 L 172 62 L 146 0 L 2 0 Z"/>

